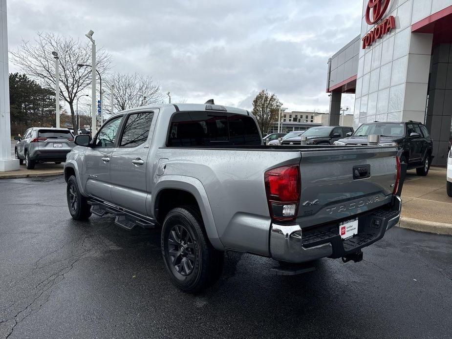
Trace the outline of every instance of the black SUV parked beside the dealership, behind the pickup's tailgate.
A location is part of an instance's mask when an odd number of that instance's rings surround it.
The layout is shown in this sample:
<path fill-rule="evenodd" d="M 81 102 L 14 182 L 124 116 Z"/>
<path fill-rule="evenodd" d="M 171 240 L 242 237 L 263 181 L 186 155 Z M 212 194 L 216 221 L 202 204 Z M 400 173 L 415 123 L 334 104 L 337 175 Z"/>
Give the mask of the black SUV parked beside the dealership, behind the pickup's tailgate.
<path fill-rule="evenodd" d="M 416 169 L 418 175 L 427 175 L 430 169 L 433 142 L 429 131 L 422 123 L 373 122 L 363 124 L 348 138 L 340 139 L 334 145 L 366 146 L 367 136 L 381 136 L 380 145 L 396 146 L 400 149 L 400 161 L 408 169 Z"/>

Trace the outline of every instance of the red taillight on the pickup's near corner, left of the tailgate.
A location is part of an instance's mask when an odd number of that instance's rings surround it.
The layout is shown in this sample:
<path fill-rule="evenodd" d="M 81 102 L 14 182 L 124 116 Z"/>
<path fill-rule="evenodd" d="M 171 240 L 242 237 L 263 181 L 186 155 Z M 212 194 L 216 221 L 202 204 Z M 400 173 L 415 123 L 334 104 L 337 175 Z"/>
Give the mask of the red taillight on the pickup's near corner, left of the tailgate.
<path fill-rule="evenodd" d="M 270 215 L 275 220 L 293 221 L 300 203 L 300 167 L 282 166 L 264 174 Z"/>

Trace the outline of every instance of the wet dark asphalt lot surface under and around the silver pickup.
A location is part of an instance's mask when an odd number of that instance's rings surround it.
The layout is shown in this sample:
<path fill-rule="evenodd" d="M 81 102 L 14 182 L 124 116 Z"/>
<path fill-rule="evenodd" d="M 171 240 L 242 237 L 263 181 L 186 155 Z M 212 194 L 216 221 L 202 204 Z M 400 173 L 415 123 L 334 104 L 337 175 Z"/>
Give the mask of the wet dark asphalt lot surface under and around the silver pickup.
<path fill-rule="evenodd" d="M 170 283 L 158 230 L 70 218 L 62 176 L 0 181 L 0 338 L 451 338 L 452 237 L 394 228 L 361 263 L 271 275 L 228 252 L 199 296 Z"/>

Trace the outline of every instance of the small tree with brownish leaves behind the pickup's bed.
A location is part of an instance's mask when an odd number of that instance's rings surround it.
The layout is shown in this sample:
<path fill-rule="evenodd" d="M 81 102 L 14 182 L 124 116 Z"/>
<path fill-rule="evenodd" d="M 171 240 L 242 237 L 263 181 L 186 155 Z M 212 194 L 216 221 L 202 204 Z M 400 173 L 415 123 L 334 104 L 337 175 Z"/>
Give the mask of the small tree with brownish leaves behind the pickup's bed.
<path fill-rule="evenodd" d="M 278 110 L 282 104 L 276 94 L 270 94 L 262 89 L 253 100 L 253 114 L 256 117 L 260 131 L 266 135 L 270 124 L 278 119 Z"/>

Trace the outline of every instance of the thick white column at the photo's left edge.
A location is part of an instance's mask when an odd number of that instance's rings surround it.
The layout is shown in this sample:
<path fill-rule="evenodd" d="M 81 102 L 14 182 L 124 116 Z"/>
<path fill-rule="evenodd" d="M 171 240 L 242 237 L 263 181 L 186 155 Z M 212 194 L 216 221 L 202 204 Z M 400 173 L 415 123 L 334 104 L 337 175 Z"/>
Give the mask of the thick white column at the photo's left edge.
<path fill-rule="evenodd" d="M 6 0 L 0 0 L 0 172 L 19 170 L 19 160 L 11 157 L 10 136 L 8 25 Z"/>

